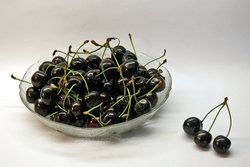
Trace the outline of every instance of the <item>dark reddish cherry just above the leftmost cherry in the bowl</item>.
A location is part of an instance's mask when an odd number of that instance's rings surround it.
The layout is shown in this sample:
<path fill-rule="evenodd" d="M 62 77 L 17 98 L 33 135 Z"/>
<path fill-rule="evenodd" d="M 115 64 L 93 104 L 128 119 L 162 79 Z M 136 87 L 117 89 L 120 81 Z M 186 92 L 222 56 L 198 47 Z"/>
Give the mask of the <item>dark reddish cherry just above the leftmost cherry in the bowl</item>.
<path fill-rule="evenodd" d="M 36 71 L 31 77 L 31 82 L 34 87 L 41 88 L 48 82 L 48 75 L 43 71 Z"/>

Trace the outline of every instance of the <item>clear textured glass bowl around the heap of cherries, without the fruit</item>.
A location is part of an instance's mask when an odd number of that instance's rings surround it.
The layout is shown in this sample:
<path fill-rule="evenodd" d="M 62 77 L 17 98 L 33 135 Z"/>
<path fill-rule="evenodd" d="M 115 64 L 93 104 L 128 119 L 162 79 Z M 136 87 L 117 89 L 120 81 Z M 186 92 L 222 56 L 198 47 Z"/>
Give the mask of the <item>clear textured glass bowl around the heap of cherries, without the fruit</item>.
<path fill-rule="evenodd" d="M 140 64 L 145 64 L 153 59 L 152 57 L 150 57 L 142 52 L 138 52 L 137 57 L 138 57 L 138 62 Z M 34 63 L 33 65 L 31 65 L 28 68 L 28 70 L 26 71 L 26 73 L 24 74 L 23 80 L 30 81 L 31 76 L 33 75 L 33 73 L 35 71 L 38 70 L 39 65 L 44 61 L 52 60 L 52 58 L 53 58 L 52 56 L 47 56 L 47 57 L 40 59 L 38 62 Z M 154 61 L 147 66 L 147 69 L 156 68 L 159 64 L 160 64 L 159 61 Z M 113 125 L 104 126 L 104 127 L 100 127 L 100 128 L 76 127 L 73 125 L 67 125 L 67 124 L 52 121 L 48 118 L 45 118 L 45 117 L 37 114 L 34 111 L 34 104 L 30 104 L 26 100 L 26 90 L 30 87 L 29 84 L 26 84 L 24 82 L 20 83 L 19 95 L 20 95 L 20 98 L 21 98 L 23 104 L 34 114 L 34 116 L 39 121 L 41 121 L 43 124 L 45 124 L 46 126 L 52 128 L 54 130 L 60 131 L 60 132 L 65 133 L 67 135 L 77 136 L 77 137 L 104 137 L 104 136 L 111 136 L 111 135 L 119 135 L 121 133 L 132 130 L 140 125 L 143 125 L 147 120 L 152 118 L 152 116 L 159 110 L 159 108 L 167 100 L 167 98 L 169 96 L 169 92 L 171 90 L 171 86 L 172 86 L 172 78 L 171 78 L 169 71 L 165 67 L 162 66 L 161 69 L 163 71 L 162 75 L 165 77 L 166 88 L 162 92 L 157 93 L 158 103 L 156 104 L 156 106 L 154 108 L 152 108 L 152 110 L 150 112 L 143 114 L 143 115 L 141 115 L 137 118 L 134 118 L 132 120 L 129 120 L 127 122 L 113 124 Z"/>

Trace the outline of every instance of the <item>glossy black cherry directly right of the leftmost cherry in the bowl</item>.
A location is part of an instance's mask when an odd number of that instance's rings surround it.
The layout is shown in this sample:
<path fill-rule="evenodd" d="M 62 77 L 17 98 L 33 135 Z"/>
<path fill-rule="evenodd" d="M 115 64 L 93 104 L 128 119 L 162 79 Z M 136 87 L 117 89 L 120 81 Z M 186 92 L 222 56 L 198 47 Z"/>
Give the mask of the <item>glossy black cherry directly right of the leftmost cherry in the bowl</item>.
<path fill-rule="evenodd" d="M 57 99 L 57 89 L 50 87 L 49 85 L 44 86 L 41 89 L 40 97 L 44 104 L 52 105 Z"/>

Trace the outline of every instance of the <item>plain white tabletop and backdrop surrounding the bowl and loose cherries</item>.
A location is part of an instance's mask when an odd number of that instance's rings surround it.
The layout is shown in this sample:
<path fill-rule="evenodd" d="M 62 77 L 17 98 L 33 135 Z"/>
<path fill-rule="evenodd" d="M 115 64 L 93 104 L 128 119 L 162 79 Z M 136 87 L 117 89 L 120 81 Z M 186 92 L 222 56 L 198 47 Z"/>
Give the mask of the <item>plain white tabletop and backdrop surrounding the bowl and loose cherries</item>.
<path fill-rule="evenodd" d="M 0 166 L 249 166 L 249 7 L 248 0 L 1 0 Z M 74 138 L 45 127 L 22 104 L 12 73 L 21 77 L 54 49 L 85 39 L 117 36 L 129 46 L 129 32 L 137 50 L 157 57 L 167 49 L 173 77 L 168 101 L 144 126 L 120 137 Z M 220 156 L 199 149 L 182 123 L 225 96 L 232 147 Z M 223 110 L 211 133 L 228 127 Z"/>

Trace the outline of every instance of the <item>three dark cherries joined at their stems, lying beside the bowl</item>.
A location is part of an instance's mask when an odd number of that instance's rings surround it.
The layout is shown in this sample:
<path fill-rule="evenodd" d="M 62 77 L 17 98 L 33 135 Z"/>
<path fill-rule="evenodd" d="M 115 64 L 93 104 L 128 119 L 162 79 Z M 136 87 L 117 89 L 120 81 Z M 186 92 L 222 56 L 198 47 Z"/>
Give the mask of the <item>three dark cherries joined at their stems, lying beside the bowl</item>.
<path fill-rule="evenodd" d="M 231 127 L 232 127 L 232 117 L 231 117 L 231 113 L 230 113 L 230 109 L 229 109 L 229 106 L 228 106 L 228 98 L 225 97 L 224 101 L 217 105 L 216 107 L 214 107 L 213 109 L 211 109 L 206 115 L 205 117 L 202 119 L 202 121 L 197 118 L 197 117 L 190 117 L 188 119 L 186 119 L 183 123 L 183 129 L 184 131 L 188 134 L 188 135 L 191 135 L 191 136 L 194 136 L 194 142 L 200 146 L 200 147 L 203 147 L 203 148 L 206 148 L 209 146 L 211 140 L 212 140 L 212 135 L 210 133 L 210 130 L 212 129 L 219 113 L 221 112 L 221 110 L 226 106 L 227 108 L 227 111 L 228 111 L 228 114 L 229 114 L 229 117 L 230 117 L 230 127 L 229 127 L 229 130 L 228 130 L 228 133 L 226 136 L 223 136 L 223 135 L 219 135 L 217 136 L 214 141 L 213 141 L 213 148 L 214 150 L 219 153 L 219 154 L 225 154 L 228 152 L 230 146 L 231 146 L 231 141 L 230 139 L 228 138 L 228 135 L 231 131 Z M 203 130 L 202 127 L 203 127 L 203 121 L 207 118 L 207 116 L 212 112 L 214 111 L 215 109 L 217 109 L 218 107 L 220 107 L 219 111 L 217 112 L 210 128 L 208 131 L 206 130 Z"/>

